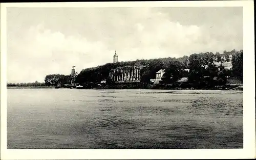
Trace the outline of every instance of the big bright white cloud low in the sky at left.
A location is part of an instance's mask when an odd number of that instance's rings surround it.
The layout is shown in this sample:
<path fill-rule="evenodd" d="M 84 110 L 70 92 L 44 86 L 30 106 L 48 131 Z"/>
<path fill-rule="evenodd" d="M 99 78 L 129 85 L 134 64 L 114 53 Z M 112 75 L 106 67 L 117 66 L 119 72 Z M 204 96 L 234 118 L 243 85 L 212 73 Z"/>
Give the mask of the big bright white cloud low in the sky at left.
<path fill-rule="evenodd" d="M 31 27 L 25 35 L 25 39 L 8 45 L 8 81 L 42 82 L 47 74 L 70 74 L 72 65 L 81 70 L 106 60 L 102 57 L 106 46 L 101 42 L 67 37 L 42 25 Z"/>

